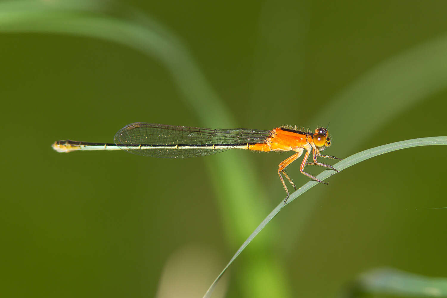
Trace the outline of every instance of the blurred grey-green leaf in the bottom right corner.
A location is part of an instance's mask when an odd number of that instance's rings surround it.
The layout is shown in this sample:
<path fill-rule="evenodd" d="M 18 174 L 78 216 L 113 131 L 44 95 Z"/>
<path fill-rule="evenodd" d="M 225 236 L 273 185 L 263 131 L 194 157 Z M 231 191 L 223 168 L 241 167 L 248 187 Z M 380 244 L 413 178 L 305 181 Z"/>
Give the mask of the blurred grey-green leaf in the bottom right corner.
<path fill-rule="evenodd" d="M 426 277 L 392 268 L 379 268 L 362 273 L 343 297 L 364 294 L 403 297 L 447 297 L 447 278 Z"/>

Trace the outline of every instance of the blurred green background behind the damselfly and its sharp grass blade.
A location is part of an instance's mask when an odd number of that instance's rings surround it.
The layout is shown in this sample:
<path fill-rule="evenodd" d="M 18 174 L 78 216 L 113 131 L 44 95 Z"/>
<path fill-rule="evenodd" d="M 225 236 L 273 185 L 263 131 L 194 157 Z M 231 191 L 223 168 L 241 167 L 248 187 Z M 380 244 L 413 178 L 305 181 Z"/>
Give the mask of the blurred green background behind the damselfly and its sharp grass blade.
<path fill-rule="evenodd" d="M 445 1 L 121 4 L 0 2 L 4 297 L 201 297 L 285 197 L 289 153 L 61 154 L 58 139 L 113 142 L 131 122 L 330 122 L 325 153 L 347 157 L 447 134 Z M 336 297 L 383 266 L 447 277 L 447 211 L 430 209 L 447 206 L 446 150 L 392 152 L 317 185 L 213 297 Z M 299 164 L 288 174 L 308 181 Z"/>

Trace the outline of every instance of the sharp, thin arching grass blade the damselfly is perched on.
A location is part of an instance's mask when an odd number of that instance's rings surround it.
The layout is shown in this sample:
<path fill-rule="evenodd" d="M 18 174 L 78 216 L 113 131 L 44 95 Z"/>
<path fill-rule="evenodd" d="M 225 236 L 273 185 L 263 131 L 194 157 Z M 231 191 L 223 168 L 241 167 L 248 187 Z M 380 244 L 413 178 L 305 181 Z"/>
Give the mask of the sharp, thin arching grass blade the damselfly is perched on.
<path fill-rule="evenodd" d="M 334 164 L 333 167 L 336 168 L 339 171 L 342 171 L 346 168 L 349 168 L 350 166 L 353 166 L 354 164 L 358 164 L 359 162 L 370 159 L 372 157 L 375 157 L 377 155 L 382 155 L 388 152 L 411 148 L 411 147 L 419 147 L 419 146 L 433 146 L 433 145 L 447 145 L 447 136 L 441 136 L 441 137 L 430 137 L 430 138 L 421 138 L 421 139 L 411 139 L 396 143 L 391 143 L 387 145 L 382 145 L 379 147 L 371 148 L 365 151 L 358 152 L 354 155 L 351 155 L 342 161 L 338 162 L 337 164 Z M 329 178 L 330 176 L 334 175 L 336 172 L 332 170 L 325 170 L 321 172 L 318 176 L 316 176 L 320 180 L 324 180 L 326 178 Z M 203 296 L 204 298 L 211 297 L 212 291 L 214 290 L 215 285 L 219 281 L 220 277 L 225 273 L 225 271 L 228 269 L 230 264 L 239 256 L 239 254 L 247 247 L 247 245 L 253 240 L 254 237 L 256 237 L 257 234 L 267 225 L 267 223 L 274 218 L 278 212 L 283 209 L 284 206 L 287 206 L 291 201 L 295 200 L 297 197 L 314 187 L 315 185 L 319 184 L 317 181 L 309 181 L 302 187 L 300 187 L 298 190 L 290 194 L 290 197 L 287 201 L 287 204 L 284 204 L 283 201 L 281 201 L 278 206 L 270 212 L 269 215 L 259 224 L 259 226 L 253 231 L 253 233 L 245 240 L 245 242 L 240 246 L 240 248 L 236 251 L 234 256 L 231 258 L 231 260 L 228 262 L 227 266 L 222 270 L 222 272 L 219 274 L 219 276 L 215 279 L 215 281 L 211 284 L 210 288 L 207 290 L 207 293 Z"/>

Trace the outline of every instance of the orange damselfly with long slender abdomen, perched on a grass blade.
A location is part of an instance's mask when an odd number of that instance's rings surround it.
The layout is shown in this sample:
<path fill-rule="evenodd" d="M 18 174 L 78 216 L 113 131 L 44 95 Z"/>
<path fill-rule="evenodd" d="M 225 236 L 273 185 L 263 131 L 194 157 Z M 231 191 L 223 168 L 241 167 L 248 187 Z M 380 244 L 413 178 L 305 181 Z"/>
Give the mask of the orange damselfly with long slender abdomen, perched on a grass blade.
<path fill-rule="evenodd" d="M 211 129 L 188 126 L 172 126 L 164 124 L 135 122 L 124 126 L 115 134 L 114 143 L 89 143 L 72 140 L 60 140 L 52 147 L 58 152 L 77 150 L 125 150 L 131 153 L 164 158 L 186 158 L 211 155 L 228 149 L 246 149 L 253 151 L 294 151 L 295 154 L 278 165 L 278 175 L 290 195 L 284 177 L 296 190 L 295 183 L 287 175 L 285 168 L 298 159 L 304 151 L 304 159 L 299 171 L 312 180 L 327 184 L 304 172 L 306 165 L 318 165 L 336 172 L 329 164 L 318 162 L 317 157 L 339 159 L 331 155 L 322 155 L 326 147 L 331 145 L 327 128 L 320 127 L 315 133 L 300 131 L 288 127 L 276 127 L 273 130 L 255 130 L 246 128 Z M 312 152 L 312 163 L 308 157 Z"/>

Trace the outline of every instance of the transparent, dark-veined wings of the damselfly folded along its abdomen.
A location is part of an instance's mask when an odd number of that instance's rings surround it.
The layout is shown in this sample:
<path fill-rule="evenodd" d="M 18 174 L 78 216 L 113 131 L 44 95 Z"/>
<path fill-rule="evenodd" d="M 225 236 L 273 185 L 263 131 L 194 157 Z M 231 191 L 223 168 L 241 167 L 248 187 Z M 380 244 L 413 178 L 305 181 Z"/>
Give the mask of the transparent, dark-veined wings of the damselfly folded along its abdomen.
<path fill-rule="evenodd" d="M 124 145 L 122 149 L 139 155 L 185 158 L 215 154 L 247 143 L 264 143 L 269 136 L 269 130 L 211 129 L 135 122 L 120 129 L 114 141 Z M 175 146 L 177 148 L 173 148 Z"/>

